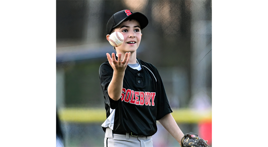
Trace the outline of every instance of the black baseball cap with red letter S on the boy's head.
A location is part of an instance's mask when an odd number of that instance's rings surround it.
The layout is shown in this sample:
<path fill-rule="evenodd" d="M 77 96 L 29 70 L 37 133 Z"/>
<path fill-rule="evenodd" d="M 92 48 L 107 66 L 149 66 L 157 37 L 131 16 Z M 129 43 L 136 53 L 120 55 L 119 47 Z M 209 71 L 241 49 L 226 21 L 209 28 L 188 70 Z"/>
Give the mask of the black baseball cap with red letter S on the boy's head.
<path fill-rule="evenodd" d="M 119 26 L 121 23 L 123 23 L 123 21 L 128 20 L 128 19 L 135 19 L 137 20 L 140 25 L 141 25 L 141 30 L 143 28 L 145 28 L 149 21 L 147 19 L 147 17 L 145 15 L 143 15 L 142 13 L 139 12 L 131 12 L 129 10 L 122 10 L 119 11 L 117 13 L 115 13 L 108 21 L 107 25 L 106 25 L 106 31 L 107 34 L 110 34 L 111 31 Z"/>

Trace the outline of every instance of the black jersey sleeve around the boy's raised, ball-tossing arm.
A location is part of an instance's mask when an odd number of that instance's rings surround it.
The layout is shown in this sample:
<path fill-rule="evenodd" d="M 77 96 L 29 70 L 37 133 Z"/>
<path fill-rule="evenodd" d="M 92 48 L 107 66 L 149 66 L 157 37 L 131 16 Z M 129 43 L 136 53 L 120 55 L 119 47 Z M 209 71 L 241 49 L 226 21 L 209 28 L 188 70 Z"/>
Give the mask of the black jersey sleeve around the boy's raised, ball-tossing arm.
<path fill-rule="evenodd" d="M 111 99 L 108 95 L 108 86 L 112 80 L 113 77 L 113 68 L 109 65 L 109 63 L 103 63 L 100 66 L 99 70 L 99 76 L 100 76 L 100 84 L 103 91 L 105 103 L 109 105 L 111 109 L 116 109 L 119 105 L 119 100 L 115 101 Z"/>

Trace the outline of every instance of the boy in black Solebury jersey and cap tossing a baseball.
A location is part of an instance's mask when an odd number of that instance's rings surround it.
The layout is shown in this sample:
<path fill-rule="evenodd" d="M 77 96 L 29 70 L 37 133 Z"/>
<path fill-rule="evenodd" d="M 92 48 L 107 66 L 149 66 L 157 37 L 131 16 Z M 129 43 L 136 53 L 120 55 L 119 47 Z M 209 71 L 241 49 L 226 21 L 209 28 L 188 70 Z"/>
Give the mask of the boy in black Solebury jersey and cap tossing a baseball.
<path fill-rule="evenodd" d="M 157 121 L 179 142 L 184 136 L 173 119 L 167 95 L 157 71 L 150 63 L 136 58 L 141 31 L 148 25 L 142 13 L 122 10 L 108 21 L 107 40 L 112 32 L 124 36 L 116 55 L 106 54 L 108 62 L 100 66 L 107 120 L 104 146 L 153 146 Z"/>

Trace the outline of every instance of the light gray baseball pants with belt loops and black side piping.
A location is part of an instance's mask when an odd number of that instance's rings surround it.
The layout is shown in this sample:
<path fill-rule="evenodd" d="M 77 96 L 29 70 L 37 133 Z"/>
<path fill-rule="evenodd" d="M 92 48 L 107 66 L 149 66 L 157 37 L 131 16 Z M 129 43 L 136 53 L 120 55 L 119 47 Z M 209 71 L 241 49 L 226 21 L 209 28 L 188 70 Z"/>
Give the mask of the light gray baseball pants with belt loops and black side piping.
<path fill-rule="evenodd" d="M 129 133 L 126 135 L 113 134 L 113 130 L 106 128 L 104 147 L 153 147 L 152 136 L 133 137 Z"/>

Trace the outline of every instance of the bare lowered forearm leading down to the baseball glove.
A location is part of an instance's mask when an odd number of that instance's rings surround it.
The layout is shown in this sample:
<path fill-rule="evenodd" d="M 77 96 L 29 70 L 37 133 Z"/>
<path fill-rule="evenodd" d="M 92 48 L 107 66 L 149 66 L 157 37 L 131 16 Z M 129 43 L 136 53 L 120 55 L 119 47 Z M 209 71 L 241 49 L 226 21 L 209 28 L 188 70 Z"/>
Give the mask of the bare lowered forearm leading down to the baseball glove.
<path fill-rule="evenodd" d="M 184 136 L 180 128 L 178 127 L 176 121 L 171 114 L 166 115 L 159 120 L 159 123 L 179 142 L 181 146 L 181 139 Z"/>

